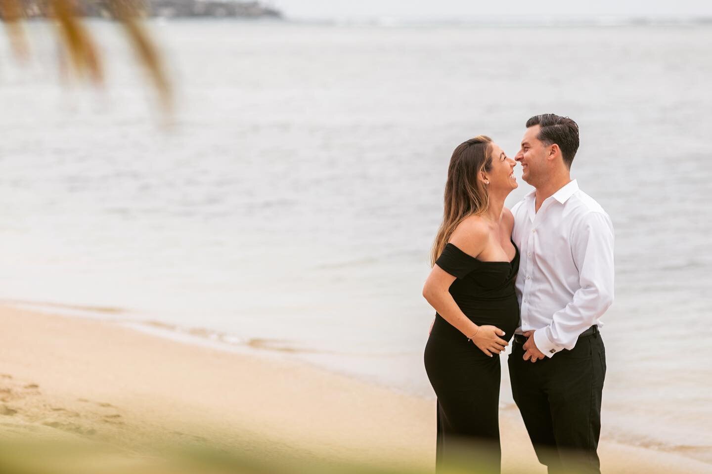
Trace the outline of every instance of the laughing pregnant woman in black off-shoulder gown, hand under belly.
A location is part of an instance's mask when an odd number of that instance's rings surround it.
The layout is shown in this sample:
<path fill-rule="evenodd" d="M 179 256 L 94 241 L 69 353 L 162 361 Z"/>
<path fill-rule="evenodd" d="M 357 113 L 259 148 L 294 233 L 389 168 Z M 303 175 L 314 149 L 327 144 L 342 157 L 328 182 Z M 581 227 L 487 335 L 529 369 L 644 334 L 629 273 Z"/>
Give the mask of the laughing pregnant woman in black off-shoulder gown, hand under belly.
<path fill-rule="evenodd" d="M 425 369 L 437 395 L 436 466 L 498 473 L 500 354 L 519 322 L 519 251 L 504 200 L 516 162 L 489 137 L 450 159 L 445 212 L 423 296 L 435 308 Z"/>

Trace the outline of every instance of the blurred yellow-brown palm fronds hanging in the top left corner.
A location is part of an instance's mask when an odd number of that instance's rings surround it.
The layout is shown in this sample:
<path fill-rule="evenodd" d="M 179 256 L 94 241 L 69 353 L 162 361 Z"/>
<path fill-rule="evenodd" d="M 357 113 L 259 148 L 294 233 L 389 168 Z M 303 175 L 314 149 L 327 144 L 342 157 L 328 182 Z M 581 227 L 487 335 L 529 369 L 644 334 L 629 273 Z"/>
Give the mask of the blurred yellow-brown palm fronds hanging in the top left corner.
<path fill-rule="evenodd" d="M 0 0 L 0 18 L 12 50 L 21 61 L 31 54 L 23 28 L 27 7 L 23 0 Z M 172 85 L 157 46 L 141 23 L 145 12 L 141 0 L 39 0 L 33 8 L 41 9 L 56 24 L 57 41 L 74 72 L 95 85 L 104 83 L 103 56 L 81 15 L 88 9 L 101 9 L 125 31 L 127 41 L 149 74 L 164 112 L 172 111 Z"/>

